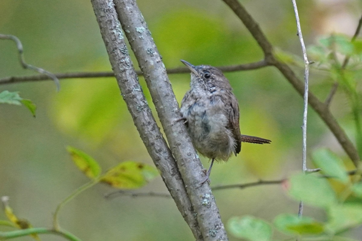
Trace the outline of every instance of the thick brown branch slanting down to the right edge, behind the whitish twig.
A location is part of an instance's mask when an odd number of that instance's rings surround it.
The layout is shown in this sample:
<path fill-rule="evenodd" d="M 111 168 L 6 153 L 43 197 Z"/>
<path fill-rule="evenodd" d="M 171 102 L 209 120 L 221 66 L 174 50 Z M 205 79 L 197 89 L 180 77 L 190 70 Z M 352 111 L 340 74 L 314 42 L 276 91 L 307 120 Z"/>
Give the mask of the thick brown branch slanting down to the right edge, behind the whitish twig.
<path fill-rule="evenodd" d="M 244 23 L 245 27 L 253 35 L 254 39 L 257 41 L 259 46 L 262 48 L 265 54 L 265 60 L 270 65 L 274 65 L 283 76 L 291 83 L 294 89 L 301 95 L 304 95 L 304 84 L 298 77 L 296 77 L 293 70 L 285 63 L 277 60 L 273 55 L 273 48 L 266 38 L 264 33 L 262 33 L 257 22 L 252 18 L 252 16 L 245 10 L 245 8 L 237 0 L 223 0 L 239 17 L 239 19 Z M 325 122 L 328 128 L 336 137 L 337 141 L 341 144 L 342 148 L 345 150 L 346 154 L 352 160 L 354 165 L 357 167 L 360 162 L 358 152 L 354 147 L 353 143 L 347 137 L 344 130 L 338 125 L 336 119 L 334 119 L 332 113 L 329 111 L 328 106 L 313 95 L 309 91 L 308 93 L 308 103 L 310 106 L 317 112 L 321 119 Z"/>

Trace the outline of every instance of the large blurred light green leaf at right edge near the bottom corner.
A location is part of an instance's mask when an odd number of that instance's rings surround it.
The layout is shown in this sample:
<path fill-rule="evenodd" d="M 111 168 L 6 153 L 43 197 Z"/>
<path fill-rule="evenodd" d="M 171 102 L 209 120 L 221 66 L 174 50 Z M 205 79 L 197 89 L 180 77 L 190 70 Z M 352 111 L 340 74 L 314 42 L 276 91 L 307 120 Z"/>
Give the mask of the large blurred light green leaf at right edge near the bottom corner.
<path fill-rule="evenodd" d="M 328 227 L 334 233 L 362 224 L 362 204 L 344 203 L 328 210 Z"/>

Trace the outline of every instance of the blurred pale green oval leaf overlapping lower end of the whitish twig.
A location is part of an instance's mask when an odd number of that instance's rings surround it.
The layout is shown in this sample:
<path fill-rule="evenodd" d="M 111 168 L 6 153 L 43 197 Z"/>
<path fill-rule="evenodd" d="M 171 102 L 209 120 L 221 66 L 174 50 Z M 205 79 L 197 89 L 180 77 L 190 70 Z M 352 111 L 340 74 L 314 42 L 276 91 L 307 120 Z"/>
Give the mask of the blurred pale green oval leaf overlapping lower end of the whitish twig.
<path fill-rule="evenodd" d="M 289 194 L 297 200 L 316 207 L 328 207 L 337 202 L 337 197 L 325 178 L 303 173 L 290 178 Z"/>

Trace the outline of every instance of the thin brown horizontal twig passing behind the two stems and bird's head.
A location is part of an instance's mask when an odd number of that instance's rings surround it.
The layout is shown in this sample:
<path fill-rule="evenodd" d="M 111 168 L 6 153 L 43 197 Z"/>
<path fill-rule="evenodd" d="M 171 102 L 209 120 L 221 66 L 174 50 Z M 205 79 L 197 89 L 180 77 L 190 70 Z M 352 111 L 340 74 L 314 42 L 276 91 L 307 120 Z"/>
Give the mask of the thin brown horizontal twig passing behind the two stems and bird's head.
<path fill-rule="evenodd" d="M 220 66 L 222 72 L 234 72 L 241 70 L 253 70 L 260 69 L 262 67 L 268 66 L 265 60 L 260 60 L 258 62 L 249 63 L 249 64 L 237 64 L 237 65 L 227 65 Z M 168 74 L 180 74 L 180 73 L 189 73 L 190 70 L 186 67 L 180 68 L 172 68 L 166 70 Z M 140 70 L 136 70 L 137 75 L 142 76 L 142 72 Z M 114 73 L 111 71 L 108 72 L 73 72 L 73 73 L 59 73 L 54 74 L 58 79 L 69 79 L 69 78 L 100 78 L 100 77 L 114 77 Z M 51 79 L 50 76 L 45 74 L 38 74 L 33 76 L 12 76 L 5 77 L 0 79 L 0 84 L 8 84 L 8 83 L 20 83 L 20 82 L 28 82 L 28 81 L 44 81 Z"/>

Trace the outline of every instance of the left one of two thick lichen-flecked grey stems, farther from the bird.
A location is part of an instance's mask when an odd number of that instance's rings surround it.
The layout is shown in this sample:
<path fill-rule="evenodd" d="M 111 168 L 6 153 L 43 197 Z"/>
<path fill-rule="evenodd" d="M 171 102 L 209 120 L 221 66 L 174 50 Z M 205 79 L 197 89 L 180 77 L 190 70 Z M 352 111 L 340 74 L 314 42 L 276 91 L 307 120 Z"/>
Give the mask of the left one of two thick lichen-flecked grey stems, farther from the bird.
<path fill-rule="evenodd" d="M 197 240 L 202 240 L 202 238 L 198 238 L 201 236 L 201 232 L 176 162 L 152 116 L 151 109 L 138 82 L 113 1 L 92 0 L 92 5 L 119 89 L 140 137 L 156 167 L 160 170 L 161 177 L 176 202 L 178 210 L 189 224 Z"/>

